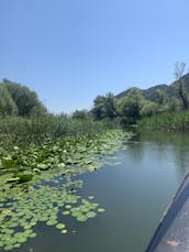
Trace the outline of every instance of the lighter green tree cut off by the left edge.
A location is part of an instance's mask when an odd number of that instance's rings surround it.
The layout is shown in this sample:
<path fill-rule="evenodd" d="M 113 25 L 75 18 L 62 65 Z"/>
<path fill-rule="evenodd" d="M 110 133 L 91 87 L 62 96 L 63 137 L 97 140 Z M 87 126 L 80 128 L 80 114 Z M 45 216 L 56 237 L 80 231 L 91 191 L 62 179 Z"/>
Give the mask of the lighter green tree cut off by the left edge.
<path fill-rule="evenodd" d="M 8 89 L 0 85 L 0 116 L 16 116 L 18 108 L 12 97 L 10 96 Z"/>

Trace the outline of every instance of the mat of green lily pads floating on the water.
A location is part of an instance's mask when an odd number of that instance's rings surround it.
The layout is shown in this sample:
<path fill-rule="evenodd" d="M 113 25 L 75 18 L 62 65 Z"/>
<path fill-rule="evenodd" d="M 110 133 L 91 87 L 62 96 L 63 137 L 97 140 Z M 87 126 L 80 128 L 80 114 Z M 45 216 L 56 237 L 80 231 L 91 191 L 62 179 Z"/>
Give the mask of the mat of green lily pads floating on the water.
<path fill-rule="evenodd" d="M 104 164 L 119 165 L 113 153 L 125 147 L 131 135 L 109 131 L 93 139 L 69 138 L 56 144 L 0 154 L 0 248 L 20 248 L 35 238 L 34 227 L 43 221 L 65 235 L 70 232 L 66 218 L 82 222 L 105 210 L 94 196 L 79 195 L 78 176 Z M 59 222 L 59 215 L 65 222 Z M 63 218 L 62 218 L 63 219 Z"/>

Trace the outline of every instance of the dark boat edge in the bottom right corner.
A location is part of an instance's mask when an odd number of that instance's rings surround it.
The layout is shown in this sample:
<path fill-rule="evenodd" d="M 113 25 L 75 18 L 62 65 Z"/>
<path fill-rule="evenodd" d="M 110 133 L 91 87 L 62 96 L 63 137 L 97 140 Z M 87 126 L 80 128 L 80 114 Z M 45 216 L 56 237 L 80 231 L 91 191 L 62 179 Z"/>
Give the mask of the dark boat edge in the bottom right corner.
<path fill-rule="evenodd" d="M 184 251 L 189 251 L 189 173 L 146 249 L 146 252 Z"/>

